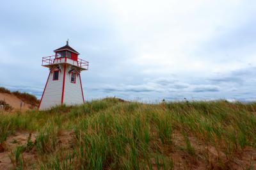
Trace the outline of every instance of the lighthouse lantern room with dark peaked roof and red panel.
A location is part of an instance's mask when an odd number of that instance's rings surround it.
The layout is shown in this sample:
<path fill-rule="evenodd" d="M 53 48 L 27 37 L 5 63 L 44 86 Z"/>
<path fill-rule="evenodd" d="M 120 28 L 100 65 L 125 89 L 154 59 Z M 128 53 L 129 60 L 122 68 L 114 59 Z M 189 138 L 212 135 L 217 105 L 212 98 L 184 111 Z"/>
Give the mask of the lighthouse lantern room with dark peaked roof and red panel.
<path fill-rule="evenodd" d="M 74 61 L 77 61 L 79 52 L 77 52 L 76 50 L 72 49 L 72 47 L 70 47 L 68 45 L 68 41 L 67 41 L 67 45 L 60 47 L 59 49 L 54 50 L 53 52 L 55 52 L 55 56 L 56 58 L 69 58 L 72 59 Z"/>

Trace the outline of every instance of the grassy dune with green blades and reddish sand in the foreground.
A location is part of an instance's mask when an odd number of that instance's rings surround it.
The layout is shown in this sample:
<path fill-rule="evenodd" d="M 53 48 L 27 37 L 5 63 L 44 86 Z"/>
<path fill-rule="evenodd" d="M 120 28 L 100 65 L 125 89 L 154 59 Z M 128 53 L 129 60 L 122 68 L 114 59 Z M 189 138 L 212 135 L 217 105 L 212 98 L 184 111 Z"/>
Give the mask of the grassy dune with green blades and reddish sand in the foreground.
<path fill-rule="evenodd" d="M 17 169 L 255 169 L 255 111 L 224 100 L 105 98 L 0 114 L 0 143 Z"/>

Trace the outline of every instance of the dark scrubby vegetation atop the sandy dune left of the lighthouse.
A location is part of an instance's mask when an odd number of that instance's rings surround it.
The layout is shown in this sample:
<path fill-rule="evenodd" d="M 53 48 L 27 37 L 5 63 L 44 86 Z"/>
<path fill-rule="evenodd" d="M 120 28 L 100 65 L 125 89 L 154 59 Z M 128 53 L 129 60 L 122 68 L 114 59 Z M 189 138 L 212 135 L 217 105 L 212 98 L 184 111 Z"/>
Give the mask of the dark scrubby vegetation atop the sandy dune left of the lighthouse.
<path fill-rule="evenodd" d="M 38 100 L 35 95 L 31 95 L 29 93 L 21 93 L 20 91 L 13 91 L 11 92 L 9 89 L 0 87 L 0 93 L 8 93 L 13 94 L 22 102 L 26 102 L 27 104 L 30 104 L 32 107 L 38 106 L 40 100 Z"/>

